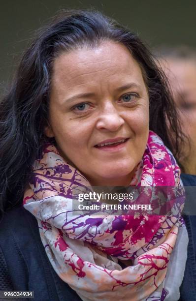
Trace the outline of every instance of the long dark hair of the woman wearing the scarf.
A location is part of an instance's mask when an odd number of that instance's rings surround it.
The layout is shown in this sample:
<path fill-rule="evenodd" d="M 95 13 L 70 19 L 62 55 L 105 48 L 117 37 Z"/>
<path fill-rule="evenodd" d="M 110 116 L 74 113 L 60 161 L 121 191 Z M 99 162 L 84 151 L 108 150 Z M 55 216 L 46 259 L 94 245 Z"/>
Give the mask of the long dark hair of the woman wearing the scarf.
<path fill-rule="evenodd" d="M 176 157 L 182 140 L 177 113 L 162 72 L 138 36 L 98 11 L 68 10 L 40 30 L 24 53 L 9 93 L 0 103 L 0 211 L 22 204 L 33 162 L 48 141 L 44 127 L 53 62 L 62 52 L 125 45 L 141 67 L 150 99 L 150 129 Z"/>

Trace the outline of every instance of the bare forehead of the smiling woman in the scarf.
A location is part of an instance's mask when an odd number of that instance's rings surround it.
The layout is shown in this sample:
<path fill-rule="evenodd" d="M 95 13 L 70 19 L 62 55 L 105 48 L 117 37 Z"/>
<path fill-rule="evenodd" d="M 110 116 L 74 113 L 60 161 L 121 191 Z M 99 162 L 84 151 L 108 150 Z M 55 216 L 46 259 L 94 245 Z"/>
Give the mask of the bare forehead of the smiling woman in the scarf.
<path fill-rule="evenodd" d="M 143 81 L 139 64 L 122 44 L 105 41 L 96 48 L 81 48 L 62 53 L 55 59 L 52 86 L 95 84 L 97 80 L 119 81 L 129 77 Z"/>

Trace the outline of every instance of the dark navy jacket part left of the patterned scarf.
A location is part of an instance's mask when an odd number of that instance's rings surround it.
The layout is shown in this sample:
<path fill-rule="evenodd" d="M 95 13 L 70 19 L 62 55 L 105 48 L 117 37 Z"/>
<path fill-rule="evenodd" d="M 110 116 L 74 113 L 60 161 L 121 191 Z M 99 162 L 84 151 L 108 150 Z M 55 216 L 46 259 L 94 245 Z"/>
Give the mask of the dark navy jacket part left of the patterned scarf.
<path fill-rule="evenodd" d="M 14 290 L 34 291 L 35 301 L 80 300 L 54 271 L 41 242 L 37 220 L 22 206 L 5 212 L 0 221 L 0 255 Z M 0 287 L 2 282 L 0 279 Z"/>

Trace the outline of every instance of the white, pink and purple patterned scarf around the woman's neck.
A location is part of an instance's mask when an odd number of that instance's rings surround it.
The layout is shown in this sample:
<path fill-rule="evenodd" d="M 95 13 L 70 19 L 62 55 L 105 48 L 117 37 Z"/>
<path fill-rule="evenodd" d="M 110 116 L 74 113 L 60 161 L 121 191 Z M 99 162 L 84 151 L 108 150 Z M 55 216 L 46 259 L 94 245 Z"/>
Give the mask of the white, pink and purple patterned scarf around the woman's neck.
<path fill-rule="evenodd" d="M 151 191 L 155 186 L 175 186 L 184 201 L 180 169 L 152 131 L 131 185 L 148 186 Z M 41 241 L 57 274 L 84 301 L 178 300 L 188 243 L 180 215 L 183 206 L 178 204 L 171 216 L 74 215 L 73 191 L 87 186 L 87 179 L 65 162 L 54 145 L 45 146 L 34 163 L 24 207 L 38 221 Z M 156 190 L 153 194 L 159 197 Z M 145 197 L 150 204 L 148 189 Z M 177 256 L 169 268 L 176 271 L 173 289 L 167 270 L 179 249 L 179 237 L 186 238 L 185 250 L 181 261 Z M 122 269 L 118 260 L 129 260 L 128 267 Z M 168 298 L 173 295 L 176 299 Z"/>

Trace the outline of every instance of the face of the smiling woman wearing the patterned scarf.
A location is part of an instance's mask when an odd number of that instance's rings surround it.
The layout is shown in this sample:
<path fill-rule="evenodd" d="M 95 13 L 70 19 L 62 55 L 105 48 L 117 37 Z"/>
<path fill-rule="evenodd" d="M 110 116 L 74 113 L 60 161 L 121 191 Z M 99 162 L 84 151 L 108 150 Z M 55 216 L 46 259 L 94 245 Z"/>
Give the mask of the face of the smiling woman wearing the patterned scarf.
<path fill-rule="evenodd" d="M 125 46 L 105 41 L 54 61 L 45 133 L 92 185 L 129 185 L 148 132 L 148 92 Z"/>

